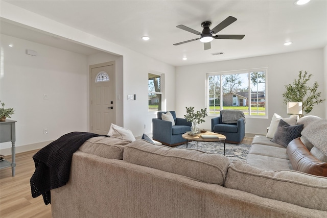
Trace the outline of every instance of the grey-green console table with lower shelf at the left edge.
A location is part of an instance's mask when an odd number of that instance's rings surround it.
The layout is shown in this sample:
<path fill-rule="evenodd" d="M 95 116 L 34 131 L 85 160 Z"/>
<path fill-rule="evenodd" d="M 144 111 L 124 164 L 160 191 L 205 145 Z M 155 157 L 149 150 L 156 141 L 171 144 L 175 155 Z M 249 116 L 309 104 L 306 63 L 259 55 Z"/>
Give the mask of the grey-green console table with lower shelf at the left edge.
<path fill-rule="evenodd" d="M 15 176 L 15 156 L 16 156 L 16 121 L 6 119 L 4 122 L 0 122 L 0 143 L 11 141 L 11 162 L 8 160 L 0 161 L 0 168 L 10 167 L 12 169 L 12 176 Z"/>

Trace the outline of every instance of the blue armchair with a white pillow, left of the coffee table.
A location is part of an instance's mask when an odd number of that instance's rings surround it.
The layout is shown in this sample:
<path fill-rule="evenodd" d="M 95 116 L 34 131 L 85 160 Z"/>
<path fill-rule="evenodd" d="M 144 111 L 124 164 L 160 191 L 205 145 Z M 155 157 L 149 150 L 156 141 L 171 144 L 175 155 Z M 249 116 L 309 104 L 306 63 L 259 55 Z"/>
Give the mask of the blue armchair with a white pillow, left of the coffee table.
<path fill-rule="evenodd" d="M 176 118 L 176 112 L 170 111 L 175 120 L 175 126 L 173 126 L 172 122 L 161 119 L 161 114 L 167 112 L 158 111 L 157 118 L 152 119 L 152 139 L 166 146 L 178 146 L 186 143 L 186 139 L 182 138 L 182 134 L 191 131 L 191 122 L 187 122 L 184 118 Z"/>

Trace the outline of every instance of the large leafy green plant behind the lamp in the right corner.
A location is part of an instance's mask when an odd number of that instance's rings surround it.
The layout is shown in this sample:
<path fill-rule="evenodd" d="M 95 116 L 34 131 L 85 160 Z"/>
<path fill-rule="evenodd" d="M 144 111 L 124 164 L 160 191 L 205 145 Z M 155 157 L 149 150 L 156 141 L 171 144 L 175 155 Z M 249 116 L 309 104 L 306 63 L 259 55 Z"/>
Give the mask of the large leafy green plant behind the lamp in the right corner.
<path fill-rule="evenodd" d="M 314 82 L 313 86 L 310 87 L 307 83 L 312 77 L 312 74 L 308 75 L 305 71 L 299 71 L 298 79 L 294 80 L 293 84 L 288 84 L 285 86 L 286 91 L 283 93 L 284 103 L 288 102 L 302 102 L 303 114 L 299 114 L 302 117 L 305 113 L 310 113 L 315 104 L 319 104 L 325 101 L 325 99 L 320 99 L 321 91 L 318 90 L 318 82 Z"/>

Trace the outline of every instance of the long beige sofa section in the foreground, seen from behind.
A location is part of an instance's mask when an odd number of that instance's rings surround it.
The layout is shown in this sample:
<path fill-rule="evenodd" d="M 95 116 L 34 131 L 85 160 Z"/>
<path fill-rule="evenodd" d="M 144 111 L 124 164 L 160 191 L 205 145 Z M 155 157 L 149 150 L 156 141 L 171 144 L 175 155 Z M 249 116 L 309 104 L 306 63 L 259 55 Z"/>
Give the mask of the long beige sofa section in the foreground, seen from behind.
<path fill-rule="evenodd" d="M 324 177 L 95 137 L 74 153 L 69 181 L 51 190 L 51 206 L 54 218 L 327 217 L 326 196 Z"/>

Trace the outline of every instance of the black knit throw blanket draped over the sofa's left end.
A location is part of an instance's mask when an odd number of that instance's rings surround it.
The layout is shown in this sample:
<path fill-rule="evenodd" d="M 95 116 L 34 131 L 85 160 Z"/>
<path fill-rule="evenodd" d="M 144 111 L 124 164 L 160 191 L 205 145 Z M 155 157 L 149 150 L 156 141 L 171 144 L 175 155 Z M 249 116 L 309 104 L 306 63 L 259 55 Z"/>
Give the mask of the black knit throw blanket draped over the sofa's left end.
<path fill-rule="evenodd" d="M 30 180 L 32 197 L 43 196 L 45 205 L 51 203 L 50 190 L 68 182 L 74 152 L 95 133 L 71 132 L 48 144 L 34 156 L 35 172 Z"/>

